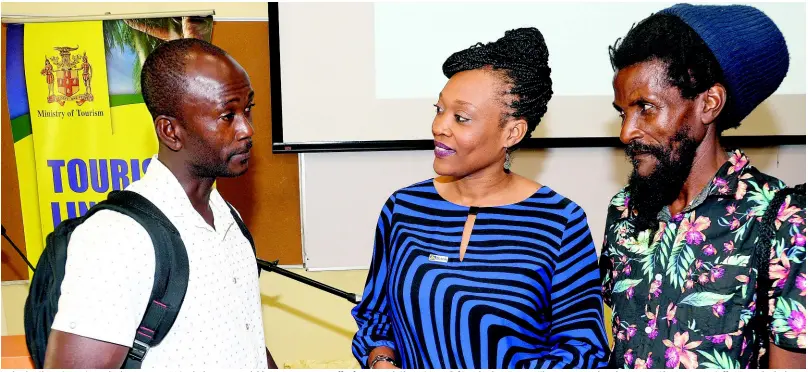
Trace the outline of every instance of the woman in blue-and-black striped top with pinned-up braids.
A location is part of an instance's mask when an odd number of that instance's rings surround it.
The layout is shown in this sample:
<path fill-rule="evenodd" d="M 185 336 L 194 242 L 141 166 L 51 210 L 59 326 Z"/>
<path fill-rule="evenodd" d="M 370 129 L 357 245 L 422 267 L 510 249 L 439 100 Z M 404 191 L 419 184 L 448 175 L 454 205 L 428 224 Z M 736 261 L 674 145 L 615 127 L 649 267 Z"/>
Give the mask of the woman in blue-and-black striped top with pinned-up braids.
<path fill-rule="evenodd" d="M 369 368 L 602 368 L 608 341 L 584 211 L 508 170 L 552 95 L 535 28 L 457 52 L 435 104 L 439 177 L 376 226 L 353 353 Z"/>

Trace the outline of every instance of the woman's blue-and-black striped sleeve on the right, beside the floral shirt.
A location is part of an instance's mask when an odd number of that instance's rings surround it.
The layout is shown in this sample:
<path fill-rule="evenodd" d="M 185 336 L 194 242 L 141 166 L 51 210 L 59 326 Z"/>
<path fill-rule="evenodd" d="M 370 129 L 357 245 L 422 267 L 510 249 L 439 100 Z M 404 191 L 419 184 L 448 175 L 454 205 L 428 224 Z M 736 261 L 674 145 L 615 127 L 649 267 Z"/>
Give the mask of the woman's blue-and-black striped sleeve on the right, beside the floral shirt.
<path fill-rule="evenodd" d="M 608 340 L 597 253 L 583 209 L 575 205 L 563 234 L 552 279 L 552 350 L 538 368 L 606 366 Z"/>

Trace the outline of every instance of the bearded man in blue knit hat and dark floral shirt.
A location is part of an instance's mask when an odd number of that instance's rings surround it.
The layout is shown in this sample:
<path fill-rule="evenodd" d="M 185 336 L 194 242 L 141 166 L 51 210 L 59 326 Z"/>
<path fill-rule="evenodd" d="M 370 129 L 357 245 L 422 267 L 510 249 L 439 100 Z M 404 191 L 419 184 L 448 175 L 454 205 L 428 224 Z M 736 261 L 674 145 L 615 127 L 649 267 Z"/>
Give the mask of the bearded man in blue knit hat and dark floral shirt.
<path fill-rule="evenodd" d="M 634 165 L 600 259 L 610 363 L 805 368 L 804 188 L 775 198 L 783 182 L 720 143 L 783 81 L 780 30 L 750 6 L 678 4 L 609 51 Z"/>

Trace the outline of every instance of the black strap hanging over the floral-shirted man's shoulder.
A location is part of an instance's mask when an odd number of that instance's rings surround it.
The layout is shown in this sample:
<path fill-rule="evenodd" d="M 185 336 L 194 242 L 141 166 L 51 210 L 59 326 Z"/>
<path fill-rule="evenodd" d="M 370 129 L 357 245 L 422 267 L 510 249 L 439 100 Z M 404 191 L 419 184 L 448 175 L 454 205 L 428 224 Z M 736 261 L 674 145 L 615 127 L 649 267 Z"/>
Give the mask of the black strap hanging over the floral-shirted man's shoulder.
<path fill-rule="evenodd" d="M 757 283 L 755 287 L 755 319 L 749 324 L 754 324 L 755 339 L 752 343 L 751 367 L 755 369 L 769 368 L 769 289 L 772 287 L 769 278 L 769 261 L 772 258 L 772 242 L 777 233 L 777 214 L 785 203 L 786 198 L 791 196 L 792 203 L 805 208 L 805 184 L 789 187 L 778 191 L 769 207 L 763 213 L 760 220 L 760 231 L 758 240 L 755 242 L 753 265 L 757 269 Z M 766 354 L 760 355 L 760 349 L 766 350 Z"/>

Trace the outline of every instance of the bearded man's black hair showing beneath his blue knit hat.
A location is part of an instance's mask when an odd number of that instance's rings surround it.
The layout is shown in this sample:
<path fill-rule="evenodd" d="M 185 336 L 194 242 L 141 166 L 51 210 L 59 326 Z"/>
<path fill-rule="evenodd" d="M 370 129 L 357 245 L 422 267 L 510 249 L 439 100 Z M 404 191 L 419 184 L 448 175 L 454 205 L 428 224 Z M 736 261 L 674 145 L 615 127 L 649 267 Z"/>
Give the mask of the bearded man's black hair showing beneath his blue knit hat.
<path fill-rule="evenodd" d="M 632 25 L 625 38 L 609 46 L 609 58 L 615 71 L 642 62 L 662 61 L 668 67 L 668 82 L 679 88 L 685 99 L 692 100 L 715 84 L 727 86 L 713 52 L 693 28 L 674 15 L 656 13 Z M 741 124 L 724 115 L 730 102 L 727 92 L 724 110 L 716 119 L 719 133 Z"/>

